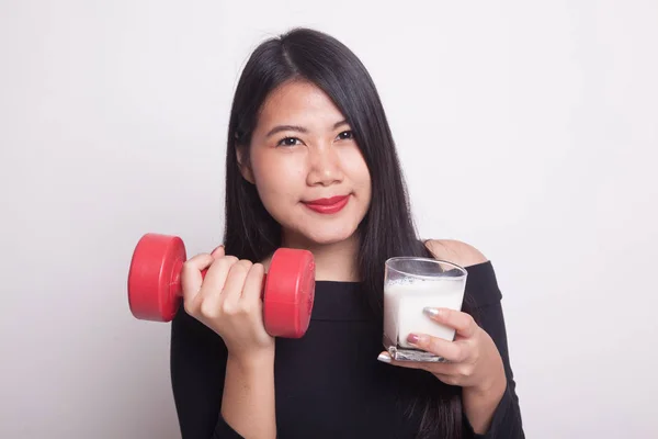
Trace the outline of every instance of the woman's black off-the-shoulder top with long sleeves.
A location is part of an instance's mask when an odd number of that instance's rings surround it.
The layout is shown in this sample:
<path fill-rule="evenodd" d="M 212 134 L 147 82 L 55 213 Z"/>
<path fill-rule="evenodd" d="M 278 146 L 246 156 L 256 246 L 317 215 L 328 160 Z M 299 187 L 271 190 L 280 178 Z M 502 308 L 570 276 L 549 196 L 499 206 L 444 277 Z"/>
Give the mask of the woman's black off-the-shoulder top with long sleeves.
<path fill-rule="evenodd" d="M 463 416 L 464 438 L 524 438 L 494 268 L 488 261 L 467 271 L 466 291 L 475 299 L 476 319 L 500 350 L 508 387 L 486 435 L 474 435 Z M 411 439 L 421 413 L 407 410 L 413 396 L 410 383 L 426 380 L 424 392 L 444 389 L 429 372 L 377 361 L 382 324 L 368 314 L 358 283 L 316 282 L 306 335 L 275 342 L 280 439 Z M 171 327 L 171 380 L 183 439 L 241 438 L 220 416 L 226 357 L 222 338 L 181 306 Z"/>

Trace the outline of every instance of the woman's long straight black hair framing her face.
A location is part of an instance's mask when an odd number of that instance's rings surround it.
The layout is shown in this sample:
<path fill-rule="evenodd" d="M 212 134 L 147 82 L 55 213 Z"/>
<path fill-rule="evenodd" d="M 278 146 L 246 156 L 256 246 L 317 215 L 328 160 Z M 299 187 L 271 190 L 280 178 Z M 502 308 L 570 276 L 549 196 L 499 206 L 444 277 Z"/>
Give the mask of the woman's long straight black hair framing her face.
<path fill-rule="evenodd" d="M 256 187 L 242 178 L 237 149 L 245 148 L 248 159 L 263 102 L 276 87 L 295 79 L 310 81 L 329 95 L 350 124 L 370 170 L 372 200 L 359 225 L 356 262 L 367 302 L 381 320 L 386 259 L 432 255 L 418 239 L 395 143 L 375 85 L 361 60 L 330 35 L 294 29 L 260 44 L 242 70 L 228 125 L 226 252 L 259 261 L 281 245 L 281 227 L 263 206 Z M 458 387 L 444 385 L 426 372 L 412 373 L 409 376 L 413 382 L 408 387 L 416 398 L 412 407 L 422 410 L 419 437 L 461 438 Z"/>

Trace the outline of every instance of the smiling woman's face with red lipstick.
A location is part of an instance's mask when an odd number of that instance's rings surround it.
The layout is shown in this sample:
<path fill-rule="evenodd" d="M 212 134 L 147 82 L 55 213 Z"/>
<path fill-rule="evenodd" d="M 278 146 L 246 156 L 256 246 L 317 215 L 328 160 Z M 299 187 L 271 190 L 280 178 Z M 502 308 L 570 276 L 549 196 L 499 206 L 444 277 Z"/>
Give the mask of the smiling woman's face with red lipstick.
<path fill-rule="evenodd" d="M 287 82 L 270 94 L 241 170 L 295 245 L 352 237 L 370 205 L 371 177 L 351 128 L 309 82 Z"/>

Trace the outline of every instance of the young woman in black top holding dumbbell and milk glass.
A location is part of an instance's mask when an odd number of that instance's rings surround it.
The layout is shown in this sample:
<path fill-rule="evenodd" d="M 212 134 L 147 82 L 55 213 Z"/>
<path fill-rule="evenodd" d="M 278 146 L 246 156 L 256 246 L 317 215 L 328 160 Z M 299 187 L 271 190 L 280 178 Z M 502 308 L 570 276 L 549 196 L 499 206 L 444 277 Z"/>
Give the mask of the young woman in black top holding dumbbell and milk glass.
<path fill-rule="evenodd" d="M 336 196 L 336 209 L 318 207 Z M 230 114 L 225 207 L 224 246 L 184 264 L 172 323 L 183 439 L 524 437 L 492 266 L 464 243 L 419 240 L 379 97 L 340 42 L 298 29 L 251 55 Z M 300 339 L 263 328 L 260 290 L 277 247 L 315 257 Z M 383 352 L 394 256 L 467 269 L 462 312 L 429 312 L 455 340 L 410 339 L 449 362 Z"/>

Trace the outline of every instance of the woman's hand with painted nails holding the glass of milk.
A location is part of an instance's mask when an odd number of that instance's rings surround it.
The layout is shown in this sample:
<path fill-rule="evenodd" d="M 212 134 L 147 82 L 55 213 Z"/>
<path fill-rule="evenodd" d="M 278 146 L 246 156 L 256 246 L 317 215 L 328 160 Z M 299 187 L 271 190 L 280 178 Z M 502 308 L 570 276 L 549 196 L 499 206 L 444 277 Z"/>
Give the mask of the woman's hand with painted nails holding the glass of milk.
<path fill-rule="evenodd" d="M 388 352 L 378 360 L 394 365 L 424 369 L 450 385 L 478 394 L 504 389 L 507 378 L 500 352 L 491 337 L 466 313 L 447 308 L 427 308 L 434 322 L 455 329 L 455 340 L 427 334 L 411 334 L 408 342 L 418 349 L 443 357 L 446 362 L 394 361 Z"/>

